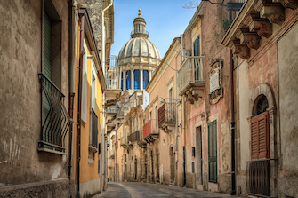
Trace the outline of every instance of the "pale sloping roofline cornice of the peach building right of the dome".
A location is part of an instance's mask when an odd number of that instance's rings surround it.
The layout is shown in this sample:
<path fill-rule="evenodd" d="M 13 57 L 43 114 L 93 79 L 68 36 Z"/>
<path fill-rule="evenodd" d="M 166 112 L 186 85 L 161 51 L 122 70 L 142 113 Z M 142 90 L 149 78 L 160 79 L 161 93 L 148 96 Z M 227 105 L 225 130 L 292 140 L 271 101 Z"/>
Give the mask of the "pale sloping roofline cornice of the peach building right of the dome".
<path fill-rule="evenodd" d="M 176 54 L 176 51 L 173 51 L 172 49 L 177 48 L 177 46 L 178 48 L 180 48 L 180 37 L 175 37 L 173 39 L 173 43 L 166 51 L 164 59 L 161 60 L 159 67 L 157 67 L 155 74 L 152 76 L 151 81 L 148 83 L 145 91 L 147 91 L 149 94 L 156 86 L 160 77 L 165 73 L 165 69 L 168 67 L 165 63 L 171 62 L 170 60 L 172 60 L 174 55 Z"/>

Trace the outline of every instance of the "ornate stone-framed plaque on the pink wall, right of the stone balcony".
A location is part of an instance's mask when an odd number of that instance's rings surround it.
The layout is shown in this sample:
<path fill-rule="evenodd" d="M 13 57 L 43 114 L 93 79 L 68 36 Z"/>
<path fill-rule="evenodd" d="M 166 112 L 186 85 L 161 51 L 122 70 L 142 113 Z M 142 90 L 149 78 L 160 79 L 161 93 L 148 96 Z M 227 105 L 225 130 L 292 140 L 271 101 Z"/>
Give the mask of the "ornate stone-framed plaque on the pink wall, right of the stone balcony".
<path fill-rule="evenodd" d="M 216 104 L 223 96 L 222 88 L 222 61 L 221 59 L 213 59 L 210 63 L 209 71 L 209 102 Z"/>

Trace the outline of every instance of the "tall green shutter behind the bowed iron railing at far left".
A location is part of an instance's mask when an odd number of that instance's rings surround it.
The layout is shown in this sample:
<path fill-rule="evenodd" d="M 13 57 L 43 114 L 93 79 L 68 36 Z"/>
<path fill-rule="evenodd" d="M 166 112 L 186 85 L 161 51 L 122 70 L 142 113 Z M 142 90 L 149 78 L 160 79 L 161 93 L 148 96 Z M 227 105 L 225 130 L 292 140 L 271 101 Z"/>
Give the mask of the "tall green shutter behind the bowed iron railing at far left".
<path fill-rule="evenodd" d="M 43 74 L 51 80 L 51 20 L 48 15 L 44 12 L 44 63 L 43 63 Z M 47 81 L 44 81 L 45 83 Z M 50 88 L 50 84 L 44 84 L 45 87 Z M 43 140 L 46 142 L 51 141 L 50 134 L 50 103 L 46 99 L 43 91 L 43 109 L 44 109 L 44 130 Z"/>

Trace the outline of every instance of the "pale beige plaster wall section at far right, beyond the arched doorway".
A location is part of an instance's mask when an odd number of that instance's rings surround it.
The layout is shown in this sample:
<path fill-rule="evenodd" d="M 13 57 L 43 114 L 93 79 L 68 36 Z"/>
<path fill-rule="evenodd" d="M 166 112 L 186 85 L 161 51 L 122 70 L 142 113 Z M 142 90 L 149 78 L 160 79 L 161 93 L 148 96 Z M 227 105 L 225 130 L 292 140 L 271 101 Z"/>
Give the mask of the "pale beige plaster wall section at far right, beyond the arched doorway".
<path fill-rule="evenodd" d="M 280 170 L 278 196 L 298 197 L 298 23 L 278 41 Z"/>

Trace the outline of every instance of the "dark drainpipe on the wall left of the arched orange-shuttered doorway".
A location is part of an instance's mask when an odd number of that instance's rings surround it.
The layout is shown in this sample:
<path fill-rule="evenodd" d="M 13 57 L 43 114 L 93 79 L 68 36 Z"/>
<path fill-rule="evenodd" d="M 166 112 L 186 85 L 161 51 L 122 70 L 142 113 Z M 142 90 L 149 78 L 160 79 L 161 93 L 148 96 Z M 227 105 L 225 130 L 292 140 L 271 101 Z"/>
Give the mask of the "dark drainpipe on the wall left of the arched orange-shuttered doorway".
<path fill-rule="evenodd" d="M 235 115 L 234 115 L 234 62 L 233 53 L 230 50 L 230 109 L 231 109 L 231 168 L 232 168 L 232 195 L 236 194 L 236 175 L 235 175 Z"/>

